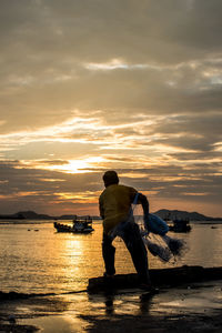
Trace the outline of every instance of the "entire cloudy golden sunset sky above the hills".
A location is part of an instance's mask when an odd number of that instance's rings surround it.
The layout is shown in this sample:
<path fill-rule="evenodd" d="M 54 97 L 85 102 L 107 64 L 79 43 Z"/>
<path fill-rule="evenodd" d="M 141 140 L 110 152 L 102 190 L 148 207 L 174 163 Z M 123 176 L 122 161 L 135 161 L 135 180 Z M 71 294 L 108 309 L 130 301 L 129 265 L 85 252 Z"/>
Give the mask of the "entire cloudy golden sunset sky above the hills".
<path fill-rule="evenodd" d="M 221 0 L 1 0 L 0 213 L 222 216 Z"/>

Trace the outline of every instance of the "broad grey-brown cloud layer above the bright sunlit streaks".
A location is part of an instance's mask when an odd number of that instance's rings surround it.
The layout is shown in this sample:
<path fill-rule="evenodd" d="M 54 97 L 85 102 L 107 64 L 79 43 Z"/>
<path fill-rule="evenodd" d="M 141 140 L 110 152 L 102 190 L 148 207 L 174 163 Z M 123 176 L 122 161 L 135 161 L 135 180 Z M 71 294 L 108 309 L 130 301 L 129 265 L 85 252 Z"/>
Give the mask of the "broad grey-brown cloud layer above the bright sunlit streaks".
<path fill-rule="evenodd" d="M 2 131 L 58 123 L 73 109 L 220 110 L 220 9 L 216 0 L 1 2 Z M 85 68 L 114 60 L 111 71 Z"/>

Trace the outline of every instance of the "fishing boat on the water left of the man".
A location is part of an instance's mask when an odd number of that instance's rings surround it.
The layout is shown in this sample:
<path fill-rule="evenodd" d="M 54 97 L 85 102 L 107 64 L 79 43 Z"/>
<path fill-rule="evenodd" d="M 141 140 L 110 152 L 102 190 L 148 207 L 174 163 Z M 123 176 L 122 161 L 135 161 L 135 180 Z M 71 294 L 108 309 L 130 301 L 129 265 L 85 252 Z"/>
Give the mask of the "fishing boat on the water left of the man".
<path fill-rule="evenodd" d="M 54 228 L 58 232 L 71 232 L 71 233 L 91 233 L 94 231 L 92 228 L 91 216 L 75 216 L 72 220 L 72 225 L 54 222 Z"/>

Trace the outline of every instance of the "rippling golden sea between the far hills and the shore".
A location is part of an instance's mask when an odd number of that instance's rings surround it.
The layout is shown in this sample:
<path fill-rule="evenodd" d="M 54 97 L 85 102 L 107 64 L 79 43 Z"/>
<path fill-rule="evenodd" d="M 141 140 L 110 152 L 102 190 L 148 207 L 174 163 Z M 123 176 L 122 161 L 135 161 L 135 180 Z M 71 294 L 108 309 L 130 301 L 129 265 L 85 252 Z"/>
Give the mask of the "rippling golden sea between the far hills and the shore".
<path fill-rule="evenodd" d="M 67 222 L 68 223 L 68 222 Z M 169 232 L 183 239 L 186 252 L 176 262 L 161 262 L 149 253 L 151 269 L 180 265 L 222 265 L 222 224 L 191 223 L 190 233 Z M 62 293 L 83 290 L 88 279 L 103 274 L 102 224 L 91 234 L 57 233 L 52 221 L 0 223 L 0 290 L 22 293 Z M 117 273 L 134 273 L 120 239 L 114 246 Z"/>

